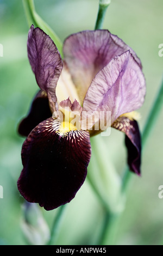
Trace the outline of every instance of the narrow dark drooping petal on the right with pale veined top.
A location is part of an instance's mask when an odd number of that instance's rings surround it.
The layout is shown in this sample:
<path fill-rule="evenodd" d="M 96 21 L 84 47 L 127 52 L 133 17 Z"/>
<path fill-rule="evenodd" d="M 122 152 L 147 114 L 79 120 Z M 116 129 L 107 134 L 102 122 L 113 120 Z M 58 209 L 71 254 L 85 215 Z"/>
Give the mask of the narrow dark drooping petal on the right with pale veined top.
<path fill-rule="evenodd" d="M 136 120 L 131 120 L 125 115 L 118 117 L 111 125 L 117 130 L 126 133 L 125 143 L 128 152 L 128 165 L 131 171 L 140 175 L 141 170 L 141 136 Z"/>

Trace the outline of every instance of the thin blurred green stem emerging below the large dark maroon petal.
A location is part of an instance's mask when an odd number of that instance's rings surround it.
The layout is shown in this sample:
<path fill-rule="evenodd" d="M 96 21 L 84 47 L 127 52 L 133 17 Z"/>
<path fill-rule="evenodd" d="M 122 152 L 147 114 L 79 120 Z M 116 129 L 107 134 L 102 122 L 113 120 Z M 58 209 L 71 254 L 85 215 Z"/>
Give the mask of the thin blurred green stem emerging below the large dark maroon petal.
<path fill-rule="evenodd" d="M 60 208 L 58 209 L 57 216 L 55 217 L 55 220 L 52 225 L 51 237 L 50 237 L 50 240 L 48 241 L 47 245 L 55 245 L 55 243 L 57 241 L 59 228 L 60 228 L 61 221 L 62 221 L 62 218 L 65 213 L 65 208 L 66 208 L 66 205 L 61 205 Z"/>

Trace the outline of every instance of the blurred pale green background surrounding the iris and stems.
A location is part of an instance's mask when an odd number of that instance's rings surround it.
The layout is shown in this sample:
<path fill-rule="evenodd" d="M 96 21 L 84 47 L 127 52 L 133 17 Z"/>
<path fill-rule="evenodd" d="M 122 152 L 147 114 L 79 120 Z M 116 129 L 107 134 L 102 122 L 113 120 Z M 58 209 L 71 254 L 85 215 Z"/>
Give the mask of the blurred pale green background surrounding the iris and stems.
<path fill-rule="evenodd" d="M 94 29 L 98 0 L 35 0 L 37 13 L 58 34 L 61 40 L 85 29 Z M 140 57 L 147 82 L 147 95 L 141 113 L 140 129 L 161 83 L 163 57 L 162 0 L 112 0 L 106 11 L 104 28 L 117 34 Z M 29 244 L 22 231 L 23 199 L 17 191 L 20 175 L 21 147 L 24 138 L 17 135 L 17 124 L 28 112 L 30 102 L 38 89 L 27 58 L 28 25 L 20 0 L 0 0 L 0 244 Z M 162 118 L 148 139 L 142 157 L 142 177 L 134 176 L 127 197 L 126 208 L 119 223 L 115 243 L 118 245 L 160 245 L 163 243 L 163 198 L 158 187 L 163 185 Z M 118 173 L 126 164 L 124 135 L 111 130 L 105 138 L 107 153 Z M 93 172 L 93 170 L 91 170 Z M 58 210 L 41 209 L 49 228 Z M 67 205 L 58 245 L 91 244 L 103 222 L 101 204 L 89 182 L 85 182 L 76 197 Z"/>

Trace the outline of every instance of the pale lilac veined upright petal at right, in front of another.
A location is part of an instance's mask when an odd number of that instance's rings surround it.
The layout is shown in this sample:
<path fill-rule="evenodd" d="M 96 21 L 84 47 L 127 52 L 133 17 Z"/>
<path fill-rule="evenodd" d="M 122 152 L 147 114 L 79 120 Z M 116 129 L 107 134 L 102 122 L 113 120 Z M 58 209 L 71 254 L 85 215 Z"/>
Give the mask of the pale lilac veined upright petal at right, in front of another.
<path fill-rule="evenodd" d="M 83 111 L 111 112 L 111 124 L 121 115 L 140 108 L 146 94 L 145 78 L 129 51 L 112 59 L 93 79 Z M 84 118 L 84 116 L 83 116 Z"/>

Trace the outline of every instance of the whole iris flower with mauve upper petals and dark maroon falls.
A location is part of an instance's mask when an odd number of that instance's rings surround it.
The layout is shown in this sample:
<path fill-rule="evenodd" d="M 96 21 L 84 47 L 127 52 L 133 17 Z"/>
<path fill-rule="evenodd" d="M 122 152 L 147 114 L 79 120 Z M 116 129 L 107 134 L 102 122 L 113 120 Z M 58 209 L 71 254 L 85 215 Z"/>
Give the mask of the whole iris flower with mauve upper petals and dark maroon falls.
<path fill-rule="evenodd" d="M 27 49 L 40 90 L 18 128 L 27 136 L 17 182 L 22 196 L 46 210 L 70 202 L 86 178 L 90 136 L 108 127 L 106 112 L 111 127 L 125 133 L 128 165 L 140 175 L 135 110 L 143 104 L 146 84 L 136 53 L 107 30 L 82 31 L 64 41 L 62 60 L 52 39 L 33 25 Z"/>

